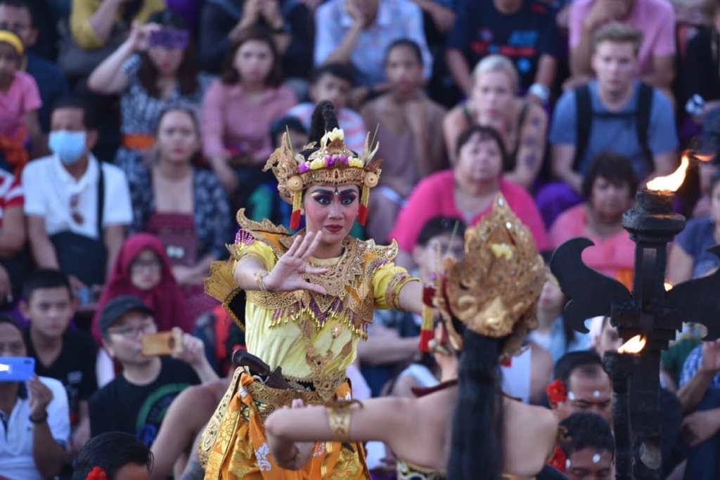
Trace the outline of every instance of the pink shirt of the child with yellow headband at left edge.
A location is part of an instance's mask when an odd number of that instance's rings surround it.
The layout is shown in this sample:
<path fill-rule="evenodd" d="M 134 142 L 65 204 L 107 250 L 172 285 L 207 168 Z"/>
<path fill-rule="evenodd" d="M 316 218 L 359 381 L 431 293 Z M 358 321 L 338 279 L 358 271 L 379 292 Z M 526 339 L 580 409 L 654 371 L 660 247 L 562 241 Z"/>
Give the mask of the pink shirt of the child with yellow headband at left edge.
<path fill-rule="evenodd" d="M 0 136 L 17 139 L 25 126 L 25 114 L 40 107 L 42 100 L 35 78 L 25 72 L 15 72 L 10 88 L 0 92 Z"/>

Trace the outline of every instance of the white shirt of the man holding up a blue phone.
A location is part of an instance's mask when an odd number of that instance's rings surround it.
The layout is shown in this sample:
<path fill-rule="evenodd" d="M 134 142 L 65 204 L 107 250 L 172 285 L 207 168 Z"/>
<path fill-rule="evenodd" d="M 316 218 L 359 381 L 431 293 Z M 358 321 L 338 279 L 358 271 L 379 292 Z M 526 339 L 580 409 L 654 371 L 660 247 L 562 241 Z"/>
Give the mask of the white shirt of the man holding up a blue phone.
<path fill-rule="evenodd" d="M 70 409 L 68 394 L 59 381 L 39 377 L 53 392 L 48 404 L 48 427 L 55 441 L 65 446 L 70 437 Z M 30 399 L 24 385 L 9 417 L 0 422 L 0 477 L 9 480 L 43 480 L 32 457 L 32 428 Z M 23 398 L 24 397 L 24 398 Z M 7 423 L 7 425 L 5 425 Z"/>

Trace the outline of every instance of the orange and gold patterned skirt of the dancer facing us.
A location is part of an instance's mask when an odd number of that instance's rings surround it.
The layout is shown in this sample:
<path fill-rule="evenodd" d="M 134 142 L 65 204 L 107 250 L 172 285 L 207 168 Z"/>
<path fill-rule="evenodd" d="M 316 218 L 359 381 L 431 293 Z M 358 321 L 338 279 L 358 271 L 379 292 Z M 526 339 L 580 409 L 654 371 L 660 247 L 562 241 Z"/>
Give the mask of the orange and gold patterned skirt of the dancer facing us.
<path fill-rule="evenodd" d="M 350 392 L 345 382 L 338 387 L 337 397 L 345 398 Z M 313 391 L 273 389 L 238 368 L 198 445 L 205 480 L 370 479 L 360 443 L 351 444 L 353 450 L 337 442 L 316 443 L 312 459 L 302 470 L 277 466 L 263 421 L 296 398 L 305 404 L 323 403 Z"/>

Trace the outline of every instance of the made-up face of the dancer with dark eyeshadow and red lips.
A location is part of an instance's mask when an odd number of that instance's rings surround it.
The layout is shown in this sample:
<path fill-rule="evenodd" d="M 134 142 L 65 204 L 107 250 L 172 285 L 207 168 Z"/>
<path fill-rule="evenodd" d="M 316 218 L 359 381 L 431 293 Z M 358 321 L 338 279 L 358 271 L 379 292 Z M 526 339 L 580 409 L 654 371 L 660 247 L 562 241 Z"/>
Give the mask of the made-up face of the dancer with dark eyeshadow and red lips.
<path fill-rule="evenodd" d="M 323 243 L 341 243 L 348 235 L 360 207 L 356 185 L 311 186 L 303 199 L 308 232 L 323 232 Z"/>

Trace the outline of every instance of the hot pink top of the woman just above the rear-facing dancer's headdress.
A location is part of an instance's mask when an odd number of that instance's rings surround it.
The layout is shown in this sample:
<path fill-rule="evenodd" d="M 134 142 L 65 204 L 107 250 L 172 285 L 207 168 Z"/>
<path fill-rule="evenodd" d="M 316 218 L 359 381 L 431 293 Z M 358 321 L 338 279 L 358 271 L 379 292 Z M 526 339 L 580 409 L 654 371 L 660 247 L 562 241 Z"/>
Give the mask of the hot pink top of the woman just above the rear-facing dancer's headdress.
<path fill-rule="evenodd" d="M 433 173 L 420 181 L 408 197 L 408 202 L 400 211 L 395 221 L 395 227 L 390 232 L 390 237 L 397 240 L 397 245 L 401 250 L 413 251 L 420 230 L 429 219 L 433 217 L 465 218 L 455 204 L 454 190 L 455 178 L 452 170 Z M 538 249 L 547 250 L 550 243 L 545 225 L 530 194 L 521 186 L 502 178 L 500 179 L 500 193 L 505 196 L 510 209 L 530 229 Z M 472 217 L 469 225 L 480 222 L 482 217 L 490 212 L 490 207 L 488 206 L 485 211 Z"/>

